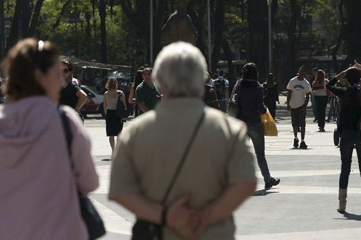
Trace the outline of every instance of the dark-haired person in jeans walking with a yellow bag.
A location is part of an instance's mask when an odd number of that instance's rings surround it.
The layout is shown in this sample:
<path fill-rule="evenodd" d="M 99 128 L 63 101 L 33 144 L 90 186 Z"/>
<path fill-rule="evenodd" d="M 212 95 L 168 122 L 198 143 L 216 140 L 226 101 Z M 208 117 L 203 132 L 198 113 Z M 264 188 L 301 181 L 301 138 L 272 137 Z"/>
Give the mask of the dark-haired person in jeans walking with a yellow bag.
<path fill-rule="evenodd" d="M 263 104 L 263 87 L 258 79 L 256 64 L 250 62 L 243 66 L 243 77 L 237 82 L 237 96 L 239 97 L 238 119 L 247 124 L 248 136 L 252 140 L 257 163 L 261 169 L 265 189 L 278 185 L 279 178 L 272 178 L 265 159 L 265 134 L 261 123 L 261 114 L 267 112 Z"/>

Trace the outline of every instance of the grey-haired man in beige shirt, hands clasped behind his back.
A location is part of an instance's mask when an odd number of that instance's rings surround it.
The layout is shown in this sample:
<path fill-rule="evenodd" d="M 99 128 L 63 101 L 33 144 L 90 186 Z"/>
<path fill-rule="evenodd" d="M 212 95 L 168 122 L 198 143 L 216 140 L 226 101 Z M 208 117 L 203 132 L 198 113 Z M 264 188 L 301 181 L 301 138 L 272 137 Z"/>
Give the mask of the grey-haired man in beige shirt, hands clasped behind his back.
<path fill-rule="evenodd" d="M 133 239 L 149 226 L 163 239 L 234 239 L 232 212 L 256 186 L 254 158 L 245 123 L 204 106 L 206 69 L 193 45 L 164 47 L 153 71 L 164 101 L 118 138 L 109 199 L 136 215 Z"/>

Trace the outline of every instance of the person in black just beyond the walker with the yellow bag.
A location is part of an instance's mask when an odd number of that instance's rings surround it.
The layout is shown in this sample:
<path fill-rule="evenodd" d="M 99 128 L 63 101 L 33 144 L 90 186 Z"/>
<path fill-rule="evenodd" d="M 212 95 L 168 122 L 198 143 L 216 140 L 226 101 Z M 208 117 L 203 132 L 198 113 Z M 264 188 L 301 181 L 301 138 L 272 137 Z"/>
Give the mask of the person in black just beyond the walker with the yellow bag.
<path fill-rule="evenodd" d="M 270 110 L 273 119 L 276 119 L 276 101 L 280 104 L 280 100 L 278 99 L 277 83 L 272 73 L 268 74 L 267 81 L 263 84 L 263 90 L 265 106 Z"/>

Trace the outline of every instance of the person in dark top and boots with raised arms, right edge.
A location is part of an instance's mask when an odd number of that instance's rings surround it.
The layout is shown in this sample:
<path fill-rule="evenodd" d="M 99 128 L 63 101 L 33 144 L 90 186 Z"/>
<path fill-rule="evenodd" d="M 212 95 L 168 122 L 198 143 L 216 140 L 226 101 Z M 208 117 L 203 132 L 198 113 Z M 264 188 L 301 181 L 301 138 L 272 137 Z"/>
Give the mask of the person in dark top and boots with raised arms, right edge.
<path fill-rule="evenodd" d="M 327 84 L 327 89 L 334 95 L 340 97 L 340 121 L 338 132 L 340 132 L 340 153 L 341 153 L 341 173 L 338 189 L 339 206 L 337 211 L 344 213 L 346 210 L 347 186 L 349 184 L 349 174 L 351 172 L 351 158 L 355 146 L 358 154 L 358 167 L 361 172 L 361 143 L 360 143 L 360 117 L 361 102 L 358 82 L 360 82 L 361 65 L 356 64 L 336 77 L 333 77 Z M 347 78 L 348 86 L 336 86 L 343 77 Z"/>

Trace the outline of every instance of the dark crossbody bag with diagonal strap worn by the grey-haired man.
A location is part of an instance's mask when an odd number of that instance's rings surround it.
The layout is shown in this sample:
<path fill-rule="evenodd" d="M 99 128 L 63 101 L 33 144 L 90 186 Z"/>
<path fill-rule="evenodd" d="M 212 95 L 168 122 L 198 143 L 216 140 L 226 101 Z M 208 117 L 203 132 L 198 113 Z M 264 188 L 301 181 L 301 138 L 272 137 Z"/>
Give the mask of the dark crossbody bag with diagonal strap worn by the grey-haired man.
<path fill-rule="evenodd" d="M 171 193 L 175 181 L 177 180 L 179 173 L 182 170 L 182 167 L 188 156 L 190 147 L 192 146 L 193 141 L 195 140 L 195 136 L 197 135 L 197 132 L 199 130 L 199 127 L 203 122 L 204 115 L 205 113 L 203 112 L 201 118 L 199 119 L 197 125 L 195 126 L 195 130 L 193 130 L 193 134 L 190 137 L 188 145 L 186 146 L 186 150 L 184 151 L 184 154 L 177 166 L 177 169 L 173 175 L 171 183 L 168 185 L 168 188 L 166 189 L 166 193 L 164 193 L 164 197 L 162 198 L 162 205 L 166 204 L 168 195 Z M 133 226 L 132 232 L 133 232 L 133 237 L 131 238 L 132 240 L 163 240 L 163 226 L 160 224 L 153 224 L 150 221 L 137 219 L 137 221 Z"/>

